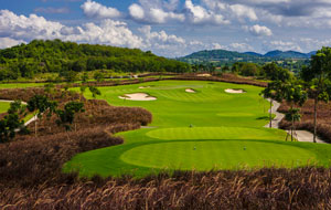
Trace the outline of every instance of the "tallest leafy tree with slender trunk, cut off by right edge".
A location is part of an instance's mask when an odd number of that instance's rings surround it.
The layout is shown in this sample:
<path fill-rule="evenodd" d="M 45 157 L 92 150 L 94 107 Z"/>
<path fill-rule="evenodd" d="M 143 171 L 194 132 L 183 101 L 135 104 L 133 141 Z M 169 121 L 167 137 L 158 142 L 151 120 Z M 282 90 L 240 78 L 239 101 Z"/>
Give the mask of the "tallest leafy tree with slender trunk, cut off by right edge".
<path fill-rule="evenodd" d="M 309 84 L 309 96 L 313 98 L 313 143 L 317 138 L 317 118 L 319 102 L 330 98 L 329 80 L 331 76 L 331 48 L 322 48 L 311 56 L 310 66 L 302 67 L 301 78 Z"/>

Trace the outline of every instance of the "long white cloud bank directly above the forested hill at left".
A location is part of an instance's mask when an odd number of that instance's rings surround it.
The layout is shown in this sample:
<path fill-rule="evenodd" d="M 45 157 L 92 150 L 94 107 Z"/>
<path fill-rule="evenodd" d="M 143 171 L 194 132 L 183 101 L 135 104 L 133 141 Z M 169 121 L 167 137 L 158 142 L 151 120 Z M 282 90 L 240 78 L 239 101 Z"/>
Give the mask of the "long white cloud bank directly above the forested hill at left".
<path fill-rule="evenodd" d="M 125 22 L 107 19 L 99 24 L 85 23 L 77 27 L 66 27 L 35 14 L 17 15 L 8 10 L 0 10 L 0 36 L 24 41 L 62 39 L 129 48 L 142 45 L 142 40 L 135 35 Z"/>

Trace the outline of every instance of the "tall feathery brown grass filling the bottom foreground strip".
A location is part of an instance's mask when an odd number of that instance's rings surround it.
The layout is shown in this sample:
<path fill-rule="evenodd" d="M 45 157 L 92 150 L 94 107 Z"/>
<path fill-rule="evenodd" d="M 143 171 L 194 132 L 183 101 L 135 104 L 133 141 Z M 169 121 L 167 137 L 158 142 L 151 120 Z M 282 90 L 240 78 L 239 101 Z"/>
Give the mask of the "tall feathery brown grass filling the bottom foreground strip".
<path fill-rule="evenodd" d="M 322 168 L 183 172 L 31 188 L 1 188 L 0 209 L 330 209 Z"/>

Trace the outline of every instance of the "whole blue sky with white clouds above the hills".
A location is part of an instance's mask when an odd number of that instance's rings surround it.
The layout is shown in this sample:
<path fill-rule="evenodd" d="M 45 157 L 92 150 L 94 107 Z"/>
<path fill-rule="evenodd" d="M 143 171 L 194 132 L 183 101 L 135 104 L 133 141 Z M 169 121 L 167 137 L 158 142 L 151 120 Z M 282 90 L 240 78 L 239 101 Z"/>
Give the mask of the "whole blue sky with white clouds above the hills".
<path fill-rule="evenodd" d="M 331 45 L 331 0 L 0 0 L 0 49 L 61 39 L 151 50 L 310 52 Z"/>

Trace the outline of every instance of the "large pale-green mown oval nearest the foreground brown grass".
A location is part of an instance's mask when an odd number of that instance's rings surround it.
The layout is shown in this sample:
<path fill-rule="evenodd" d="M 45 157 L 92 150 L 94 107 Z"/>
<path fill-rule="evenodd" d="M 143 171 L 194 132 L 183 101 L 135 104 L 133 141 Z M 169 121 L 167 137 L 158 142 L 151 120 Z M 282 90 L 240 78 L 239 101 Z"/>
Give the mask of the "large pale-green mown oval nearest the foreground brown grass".
<path fill-rule="evenodd" d="M 247 167 L 298 167 L 316 161 L 307 149 L 246 140 L 175 141 L 135 147 L 121 155 L 128 164 L 182 170 Z"/>

